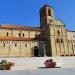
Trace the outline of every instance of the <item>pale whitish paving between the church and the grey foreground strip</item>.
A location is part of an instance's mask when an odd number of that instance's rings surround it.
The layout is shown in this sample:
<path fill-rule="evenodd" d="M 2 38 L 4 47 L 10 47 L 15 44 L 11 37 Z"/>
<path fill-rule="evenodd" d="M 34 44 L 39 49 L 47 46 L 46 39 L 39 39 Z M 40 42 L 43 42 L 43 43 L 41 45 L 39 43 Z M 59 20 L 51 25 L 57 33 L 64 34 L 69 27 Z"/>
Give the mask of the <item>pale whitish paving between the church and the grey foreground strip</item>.
<path fill-rule="evenodd" d="M 12 70 L 31 70 L 44 67 L 44 61 L 47 59 L 53 59 L 61 68 L 75 68 L 75 57 L 11 57 L 0 58 L 0 61 L 2 59 L 15 63 Z"/>

